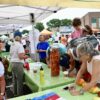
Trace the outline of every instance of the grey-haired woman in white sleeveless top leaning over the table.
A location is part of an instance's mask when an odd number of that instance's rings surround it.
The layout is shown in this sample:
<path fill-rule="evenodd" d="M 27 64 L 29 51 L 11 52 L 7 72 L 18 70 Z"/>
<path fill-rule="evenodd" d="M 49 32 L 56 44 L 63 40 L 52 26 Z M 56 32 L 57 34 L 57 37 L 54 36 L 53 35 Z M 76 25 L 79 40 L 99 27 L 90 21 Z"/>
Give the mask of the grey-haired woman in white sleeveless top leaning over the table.
<path fill-rule="evenodd" d="M 72 91 L 73 95 L 79 95 L 88 91 L 96 84 L 100 83 L 100 54 L 93 48 L 90 42 L 82 43 L 77 47 L 78 57 L 82 61 L 81 68 L 76 77 L 76 84 L 82 75 L 88 71 L 91 74 L 91 81 L 80 91 Z"/>

